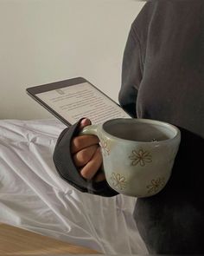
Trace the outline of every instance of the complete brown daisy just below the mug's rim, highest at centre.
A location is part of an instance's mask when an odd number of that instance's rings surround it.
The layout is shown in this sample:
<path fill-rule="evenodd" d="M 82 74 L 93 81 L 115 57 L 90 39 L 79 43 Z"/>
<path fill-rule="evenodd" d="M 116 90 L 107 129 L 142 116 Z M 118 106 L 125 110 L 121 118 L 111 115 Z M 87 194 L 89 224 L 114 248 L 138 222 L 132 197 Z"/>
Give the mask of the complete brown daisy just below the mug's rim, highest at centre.
<path fill-rule="evenodd" d="M 137 166 L 139 164 L 141 167 L 144 167 L 146 163 L 150 163 L 152 161 L 150 152 L 145 151 L 142 148 L 139 150 L 132 150 L 129 158 L 132 160 L 132 166 Z"/>

